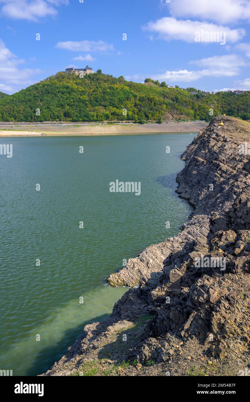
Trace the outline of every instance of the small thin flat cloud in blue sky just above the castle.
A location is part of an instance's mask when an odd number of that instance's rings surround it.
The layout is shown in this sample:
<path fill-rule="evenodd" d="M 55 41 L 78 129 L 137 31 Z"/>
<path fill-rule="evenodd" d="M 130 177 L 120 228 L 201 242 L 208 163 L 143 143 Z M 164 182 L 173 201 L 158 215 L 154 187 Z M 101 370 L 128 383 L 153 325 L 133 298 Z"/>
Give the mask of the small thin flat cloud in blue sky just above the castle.
<path fill-rule="evenodd" d="M 109 51 L 114 50 L 112 44 L 104 41 L 66 41 L 58 42 L 55 47 L 71 51 Z"/>

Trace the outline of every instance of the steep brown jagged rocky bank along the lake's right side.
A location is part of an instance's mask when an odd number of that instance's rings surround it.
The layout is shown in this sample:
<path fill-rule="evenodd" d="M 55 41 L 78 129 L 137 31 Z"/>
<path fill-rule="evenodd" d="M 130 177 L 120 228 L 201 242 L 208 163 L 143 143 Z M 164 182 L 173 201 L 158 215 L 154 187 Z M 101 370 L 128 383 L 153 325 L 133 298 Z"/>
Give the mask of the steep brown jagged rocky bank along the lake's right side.
<path fill-rule="evenodd" d="M 220 123 L 223 125 L 220 125 Z M 108 277 L 130 289 L 43 375 L 241 375 L 250 363 L 250 124 L 215 117 L 181 156 L 194 211 Z"/>

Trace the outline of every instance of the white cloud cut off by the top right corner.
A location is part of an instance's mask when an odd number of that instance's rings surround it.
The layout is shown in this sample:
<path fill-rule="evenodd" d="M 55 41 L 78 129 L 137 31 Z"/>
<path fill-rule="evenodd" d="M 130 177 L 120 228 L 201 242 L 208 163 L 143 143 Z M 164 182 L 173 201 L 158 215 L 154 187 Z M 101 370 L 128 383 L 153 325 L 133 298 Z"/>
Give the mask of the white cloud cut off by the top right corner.
<path fill-rule="evenodd" d="M 201 18 L 220 24 L 250 21 L 249 0 L 171 0 L 166 6 L 175 17 Z"/>

